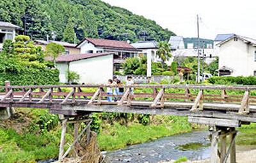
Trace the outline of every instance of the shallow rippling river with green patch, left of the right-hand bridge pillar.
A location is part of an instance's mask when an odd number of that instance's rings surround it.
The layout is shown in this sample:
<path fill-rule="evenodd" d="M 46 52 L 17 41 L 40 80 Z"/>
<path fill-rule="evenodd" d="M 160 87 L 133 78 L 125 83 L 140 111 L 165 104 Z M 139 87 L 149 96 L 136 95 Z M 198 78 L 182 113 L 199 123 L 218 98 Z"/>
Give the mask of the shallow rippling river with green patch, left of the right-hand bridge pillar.
<path fill-rule="evenodd" d="M 155 141 L 128 146 L 112 152 L 103 151 L 113 163 L 121 162 L 150 162 L 160 160 L 175 160 L 187 157 L 189 160 L 202 160 L 210 157 L 209 132 L 195 131 Z"/>

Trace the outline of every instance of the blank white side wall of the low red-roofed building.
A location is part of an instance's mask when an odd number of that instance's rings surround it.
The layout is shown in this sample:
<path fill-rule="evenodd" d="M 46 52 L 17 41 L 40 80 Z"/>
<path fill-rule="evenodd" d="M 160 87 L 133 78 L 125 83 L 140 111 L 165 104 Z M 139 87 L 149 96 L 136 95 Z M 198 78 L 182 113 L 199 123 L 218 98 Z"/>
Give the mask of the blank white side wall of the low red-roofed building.
<path fill-rule="evenodd" d="M 79 83 L 106 84 L 113 77 L 113 55 L 70 62 L 69 70 L 80 75 Z"/>

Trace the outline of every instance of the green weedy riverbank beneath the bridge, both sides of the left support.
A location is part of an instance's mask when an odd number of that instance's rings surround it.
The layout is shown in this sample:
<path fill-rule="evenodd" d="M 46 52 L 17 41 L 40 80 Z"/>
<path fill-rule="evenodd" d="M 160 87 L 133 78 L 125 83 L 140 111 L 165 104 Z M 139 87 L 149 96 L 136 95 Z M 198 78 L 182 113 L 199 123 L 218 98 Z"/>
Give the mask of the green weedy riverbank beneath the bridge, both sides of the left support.
<path fill-rule="evenodd" d="M 58 116 L 49 114 L 47 109 L 17 109 L 16 112 L 12 119 L 0 121 L 0 160 L 36 162 L 58 157 L 61 137 Z M 116 150 L 192 130 L 187 118 L 176 116 L 98 113 L 91 118 L 100 150 Z M 68 144 L 72 144 L 73 131 L 74 124 L 68 123 Z"/>

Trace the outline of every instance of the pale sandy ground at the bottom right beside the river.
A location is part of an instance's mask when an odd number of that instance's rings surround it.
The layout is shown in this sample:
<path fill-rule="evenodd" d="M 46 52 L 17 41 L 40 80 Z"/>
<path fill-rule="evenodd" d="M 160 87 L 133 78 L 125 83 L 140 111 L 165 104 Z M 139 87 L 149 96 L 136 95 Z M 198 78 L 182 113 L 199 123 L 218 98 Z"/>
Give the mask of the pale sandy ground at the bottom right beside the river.
<path fill-rule="evenodd" d="M 255 163 L 256 162 L 256 150 L 250 150 L 250 151 L 241 151 L 237 153 L 237 163 Z M 228 158 L 228 162 L 229 162 Z M 174 160 L 171 161 L 161 161 L 159 163 L 173 163 Z M 209 159 L 207 160 L 197 160 L 197 161 L 187 161 L 184 163 L 208 163 L 210 162 Z"/>

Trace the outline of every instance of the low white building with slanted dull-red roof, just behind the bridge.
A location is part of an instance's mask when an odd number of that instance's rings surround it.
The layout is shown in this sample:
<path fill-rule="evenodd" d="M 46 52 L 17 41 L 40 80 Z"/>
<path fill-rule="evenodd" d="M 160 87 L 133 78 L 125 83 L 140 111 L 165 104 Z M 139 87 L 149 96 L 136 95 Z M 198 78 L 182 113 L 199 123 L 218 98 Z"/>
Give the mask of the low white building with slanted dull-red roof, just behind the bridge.
<path fill-rule="evenodd" d="M 63 83 L 68 82 L 68 71 L 79 74 L 84 84 L 106 84 L 113 78 L 113 53 L 61 55 L 56 61 Z"/>

